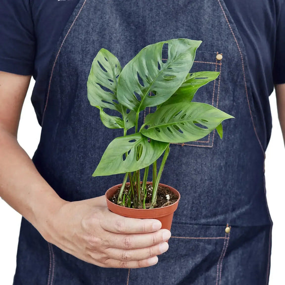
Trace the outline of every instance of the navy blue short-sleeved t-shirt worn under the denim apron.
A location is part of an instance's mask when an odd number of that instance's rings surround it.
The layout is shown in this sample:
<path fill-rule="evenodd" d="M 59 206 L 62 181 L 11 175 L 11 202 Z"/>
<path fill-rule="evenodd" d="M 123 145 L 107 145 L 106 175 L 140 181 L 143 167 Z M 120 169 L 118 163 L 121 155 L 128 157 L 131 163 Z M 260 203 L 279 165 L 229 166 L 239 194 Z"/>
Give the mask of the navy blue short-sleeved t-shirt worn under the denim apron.
<path fill-rule="evenodd" d="M 0 0 L 0 70 L 33 75 L 41 124 L 49 60 L 79 0 Z M 271 134 L 269 95 L 285 83 L 285 0 L 224 0 L 243 40 L 255 98 Z"/>

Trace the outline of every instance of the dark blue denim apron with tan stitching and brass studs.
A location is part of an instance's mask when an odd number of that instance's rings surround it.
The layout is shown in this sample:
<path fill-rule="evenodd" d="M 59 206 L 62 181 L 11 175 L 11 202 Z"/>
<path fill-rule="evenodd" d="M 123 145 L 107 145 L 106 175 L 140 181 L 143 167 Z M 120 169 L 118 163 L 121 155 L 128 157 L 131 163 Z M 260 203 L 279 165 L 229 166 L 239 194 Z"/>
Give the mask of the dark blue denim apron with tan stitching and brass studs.
<path fill-rule="evenodd" d="M 146 45 L 202 40 L 191 71 L 219 71 L 195 100 L 235 116 L 196 141 L 171 144 L 161 182 L 181 192 L 169 250 L 142 269 L 100 268 L 47 243 L 22 220 L 14 285 L 267 285 L 272 220 L 267 207 L 266 129 L 251 91 L 245 48 L 223 0 L 80 0 L 50 61 L 42 134 L 33 161 L 68 201 L 103 195 L 123 175 L 92 177 L 122 130 L 100 122 L 87 98 L 102 47 L 124 66 Z M 147 108 L 143 117 L 151 110 Z M 230 230 L 225 231 L 226 227 Z"/>

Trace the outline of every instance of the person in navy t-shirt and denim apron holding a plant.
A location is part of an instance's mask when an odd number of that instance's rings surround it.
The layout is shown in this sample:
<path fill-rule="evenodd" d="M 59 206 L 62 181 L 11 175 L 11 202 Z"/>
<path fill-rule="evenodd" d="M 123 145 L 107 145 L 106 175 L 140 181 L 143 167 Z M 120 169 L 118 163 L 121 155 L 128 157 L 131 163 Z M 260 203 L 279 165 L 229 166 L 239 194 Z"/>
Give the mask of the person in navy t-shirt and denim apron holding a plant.
<path fill-rule="evenodd" d="M 23 216 L 14 285 L 268 284 L 264 158 L 274 86 L 285 138 L 284 0 L 0 2 L 0 193 Z M 86 82 L 101 47 L 124 66 L 171 38 L 203 41 L 191 71 L 220 76 L 197 99 L 236 119 L 223 140 L 171 144 L 162 181 L 182 199 L 170 233 L 107 209 L 122 177 L 91 175 L 119 131 L 106 134 Z M 42 133 L 30 160 L 17 129 L 32 75 Z"/>

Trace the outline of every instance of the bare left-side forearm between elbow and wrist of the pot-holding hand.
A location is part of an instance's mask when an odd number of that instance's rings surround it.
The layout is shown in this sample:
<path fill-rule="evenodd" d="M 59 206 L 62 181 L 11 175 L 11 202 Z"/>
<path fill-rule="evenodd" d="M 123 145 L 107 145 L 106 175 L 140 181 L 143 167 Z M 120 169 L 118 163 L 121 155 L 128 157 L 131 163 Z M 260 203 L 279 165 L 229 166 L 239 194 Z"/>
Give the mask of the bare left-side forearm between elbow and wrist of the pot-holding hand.
<path fill-rule="evenodd" d="M 37 228 L 65 203 L 39 174 L 16 137 L 1 128 L 0 196 Z"/>

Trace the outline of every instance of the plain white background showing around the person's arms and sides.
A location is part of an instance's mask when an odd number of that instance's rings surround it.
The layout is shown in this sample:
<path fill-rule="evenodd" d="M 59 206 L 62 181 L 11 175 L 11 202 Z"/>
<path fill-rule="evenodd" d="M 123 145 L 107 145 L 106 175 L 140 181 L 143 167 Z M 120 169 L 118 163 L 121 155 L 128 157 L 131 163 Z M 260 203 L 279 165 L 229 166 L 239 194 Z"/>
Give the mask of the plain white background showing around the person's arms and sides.
<path fill-rule="evenodd" d="M 30 101 L 33 85 L 34 81 L 24 103 L 18 133 L 18 140 L 30 157 L 37 148 L 41 132 Z M 270 96 L 270 103 L 273 132 L 266 152 L 266 187 L 274 225 L 269 285 L 281 285 L 285 284 L 285 148 L 278 122 L 275 94 Z M 20 219 L 21 216 L 16 211 L 0 200 L 0 285 L 12 285 L 13 282 Z"/>

